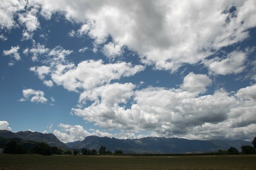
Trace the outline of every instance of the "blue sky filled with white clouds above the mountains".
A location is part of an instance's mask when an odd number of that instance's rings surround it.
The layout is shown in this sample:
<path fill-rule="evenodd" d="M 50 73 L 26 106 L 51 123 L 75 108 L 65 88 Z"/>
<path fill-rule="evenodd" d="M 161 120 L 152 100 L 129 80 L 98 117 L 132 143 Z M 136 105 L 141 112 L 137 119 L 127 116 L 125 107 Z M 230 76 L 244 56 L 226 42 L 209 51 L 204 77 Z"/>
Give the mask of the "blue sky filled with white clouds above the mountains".
<path fill-rule="evenodd" d="M 256 134 L 255 0 L 0 0 L 0 129 Z"/>

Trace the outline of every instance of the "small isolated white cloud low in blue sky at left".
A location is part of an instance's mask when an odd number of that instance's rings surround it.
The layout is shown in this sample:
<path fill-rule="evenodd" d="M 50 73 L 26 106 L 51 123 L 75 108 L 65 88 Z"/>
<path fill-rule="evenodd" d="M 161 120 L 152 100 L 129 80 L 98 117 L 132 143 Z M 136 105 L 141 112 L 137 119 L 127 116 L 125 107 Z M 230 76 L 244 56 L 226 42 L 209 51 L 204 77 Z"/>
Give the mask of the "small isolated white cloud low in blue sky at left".
<path fill-rule="evenodd" d="M 44 92 L 43 91 L 35 91 L 31 88 L 25 89 L 22 91 L 23 92 L 23 98 L 21 98 L 19 101 L 23 102 L 26 100 L 29 100 L 31 102 L 36 102 L 36 103 L 46 103 L 47 99 L 44 97 Z"/>

